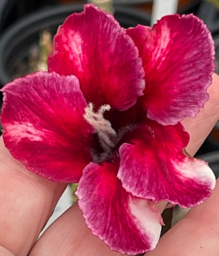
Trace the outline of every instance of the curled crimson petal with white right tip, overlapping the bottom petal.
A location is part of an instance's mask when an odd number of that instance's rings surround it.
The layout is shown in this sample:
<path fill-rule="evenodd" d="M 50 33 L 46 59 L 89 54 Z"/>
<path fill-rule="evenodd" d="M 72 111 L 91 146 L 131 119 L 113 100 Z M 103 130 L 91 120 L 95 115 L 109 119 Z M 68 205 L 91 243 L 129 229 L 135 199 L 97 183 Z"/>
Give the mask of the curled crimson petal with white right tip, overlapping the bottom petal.
<path fill-rule="evenodd" d="M 117 177 L 127 192 L 182 207 L 196 206 L 211 195 L 213 172 L 204 161 L 182 153 L 188 134 L 180 123 L 162 126 L 149 121 L 131 137 L 119 148 Z"/>

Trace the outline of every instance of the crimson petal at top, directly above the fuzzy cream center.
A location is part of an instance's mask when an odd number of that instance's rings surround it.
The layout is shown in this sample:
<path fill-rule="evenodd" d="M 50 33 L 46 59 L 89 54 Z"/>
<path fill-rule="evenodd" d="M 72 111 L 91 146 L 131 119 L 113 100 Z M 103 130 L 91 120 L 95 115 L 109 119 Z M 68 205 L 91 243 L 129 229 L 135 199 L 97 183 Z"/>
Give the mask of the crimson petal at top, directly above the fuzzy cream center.
<path fill-rule="evenodd" d="M 135 104 L 145 88 L 142 60 L 112 15 L 87 4 L 70 15 L 54 37 L 49 71 L 75 75 L 87 102 L 119 111 Z"/>

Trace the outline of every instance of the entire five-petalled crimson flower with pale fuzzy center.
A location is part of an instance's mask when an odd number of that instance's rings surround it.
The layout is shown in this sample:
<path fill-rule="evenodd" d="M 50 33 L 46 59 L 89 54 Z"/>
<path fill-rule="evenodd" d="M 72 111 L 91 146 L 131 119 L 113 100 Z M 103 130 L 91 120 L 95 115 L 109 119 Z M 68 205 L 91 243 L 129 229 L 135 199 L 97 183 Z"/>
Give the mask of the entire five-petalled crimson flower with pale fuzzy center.
<path fill-rule="evenodd" d="M 157 203 L 193 207 L 215 186 L 207 163 L 184 154 L 180 124 L 208 100 L 210 32 L 193 15 L 125 30 L 88 4 L 60 26 L 53 47 L 48 73 L 3 87 L 5 145 L 31 172 L 79 182 L 85 222 L 111 250 L 152 250 Z"/>

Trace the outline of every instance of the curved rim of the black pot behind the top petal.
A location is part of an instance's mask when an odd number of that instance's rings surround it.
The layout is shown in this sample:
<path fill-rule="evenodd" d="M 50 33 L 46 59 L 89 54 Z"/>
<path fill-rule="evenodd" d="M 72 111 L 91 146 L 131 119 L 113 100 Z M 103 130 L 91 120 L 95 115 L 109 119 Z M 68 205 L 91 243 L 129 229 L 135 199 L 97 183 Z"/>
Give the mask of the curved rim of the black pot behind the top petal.
<path fill-rule="evenodd" d="M 25 17 L 20 18 L 16 23 L 9 26 L 0 37 L 0 84 L 3 85 L 12 80 L 10 79 L 6 63 L 10 51 L 16 48 L 15 45 L 18 45 L 17 42 L 19 40 L 21 41 L 23 34 L 24 38 L 28 38 L 28 33 L 29 35 L 33 35 L 36 31 L 39 31 L 39 28 L 47 26 L 47 23 L 48 26 L 51 25 L 50 23 L 54 21 L 58 24 L 61 24 L 65 20 L 65 17 L 73 12 L 81 12 L 82 10 L 82 4 L 68 4 L 54 6 L 52 8 L 43 8 L 32 12 L 30 15 L 26 15 Z M 132 20 L 138 18 L 139 20 L 145 22 L 150 21 L 150 15 L 146 12 L 142 12 L 125 6 L 116 6 L 115 16 L 121 16 L 121 19 L 127 19 L 127 17 L 131 19 L 131 17 L 133 17 Z"/>

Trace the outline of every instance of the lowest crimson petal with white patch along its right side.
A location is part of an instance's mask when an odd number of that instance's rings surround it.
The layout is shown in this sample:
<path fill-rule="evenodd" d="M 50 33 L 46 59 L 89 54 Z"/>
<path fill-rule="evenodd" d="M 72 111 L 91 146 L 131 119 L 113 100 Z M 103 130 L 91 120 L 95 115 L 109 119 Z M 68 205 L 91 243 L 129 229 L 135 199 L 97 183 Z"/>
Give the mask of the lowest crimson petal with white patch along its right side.
<path fill-rule="evenodd" d="M 156 204 L 131 196 L 117 179 L 118 163 L 90 163 L 77 196 L 87 226 L 111 250 L 137 254 L 154 249 L 162 218 Z"/>

